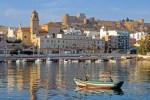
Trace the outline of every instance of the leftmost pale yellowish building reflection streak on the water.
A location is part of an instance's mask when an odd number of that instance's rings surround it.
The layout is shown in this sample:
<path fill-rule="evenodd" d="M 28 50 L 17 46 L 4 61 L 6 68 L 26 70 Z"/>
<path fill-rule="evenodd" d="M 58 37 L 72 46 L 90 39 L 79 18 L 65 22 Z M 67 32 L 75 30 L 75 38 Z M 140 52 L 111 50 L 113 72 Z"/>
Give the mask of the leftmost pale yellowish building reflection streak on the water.
<path fill-rule="evenodd" d="M 13 69 L 10 69 L 8 68 L 8 71 L 7 71 L 7 81 L 8 81 L 8 91 L 12 91 L 12 87 L 14 87 L 14 70 Z"/>

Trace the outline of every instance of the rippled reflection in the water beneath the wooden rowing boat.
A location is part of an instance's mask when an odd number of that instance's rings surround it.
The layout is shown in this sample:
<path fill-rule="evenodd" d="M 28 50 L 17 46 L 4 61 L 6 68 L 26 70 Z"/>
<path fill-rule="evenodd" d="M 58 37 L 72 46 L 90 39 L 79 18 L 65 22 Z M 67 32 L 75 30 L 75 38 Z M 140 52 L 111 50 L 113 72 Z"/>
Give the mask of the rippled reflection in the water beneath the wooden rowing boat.
<path fill-rule="evenodd" d="M 74 90 L 76 93 L 79 94 L 84 94 L 84 95 L 124 95 L 124 92 L 122 91 L 122 89 L 85 89 L 85 88 L 80 88 L 80 87 L 76 87 L 76 89 Z"/>

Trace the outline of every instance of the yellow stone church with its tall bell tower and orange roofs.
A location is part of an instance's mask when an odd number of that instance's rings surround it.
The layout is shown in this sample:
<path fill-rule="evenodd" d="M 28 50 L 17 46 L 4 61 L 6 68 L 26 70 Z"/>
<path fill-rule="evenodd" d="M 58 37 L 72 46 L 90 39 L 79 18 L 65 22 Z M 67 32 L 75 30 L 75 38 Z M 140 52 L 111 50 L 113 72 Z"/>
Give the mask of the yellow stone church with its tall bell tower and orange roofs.
<path fill-rule="evenodd" d="M 41 36 L 56 36 L 60 32 L 60 26 L 57 23 L 46 23 L 39 25 L 38 13 L 34 10 L 30 17 L 30 26 L 22 27 L 19 25 L 17 30 L 17 39 L 21 39 L 22 43 L 27 46 L 37 46 L 38 39 Z"/>

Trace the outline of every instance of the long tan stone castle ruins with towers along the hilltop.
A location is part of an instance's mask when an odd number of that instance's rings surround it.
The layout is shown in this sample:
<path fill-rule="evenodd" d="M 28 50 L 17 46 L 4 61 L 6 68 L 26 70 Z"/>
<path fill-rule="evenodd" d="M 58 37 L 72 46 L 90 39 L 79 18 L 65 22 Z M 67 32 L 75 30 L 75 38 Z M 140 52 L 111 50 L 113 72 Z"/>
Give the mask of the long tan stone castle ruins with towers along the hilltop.
<path fill-rule="evenodd" d="M 78 26 L 84 29 L 98 29 L 102 26 L 109 27 L 110 29 L 123 29 L 131 32 L 145 31 L 146 24 L 144 19 L 134 20 L 122 20 L 122 21 L 105 21 L 105 20 L 95 20 L 94 17 L 86 18 L 84 13 L 79 13 L 76 16 L 69 16 L 69 14 L 64 14 L 62 16 L 62 25 L 64 26 Z"/>

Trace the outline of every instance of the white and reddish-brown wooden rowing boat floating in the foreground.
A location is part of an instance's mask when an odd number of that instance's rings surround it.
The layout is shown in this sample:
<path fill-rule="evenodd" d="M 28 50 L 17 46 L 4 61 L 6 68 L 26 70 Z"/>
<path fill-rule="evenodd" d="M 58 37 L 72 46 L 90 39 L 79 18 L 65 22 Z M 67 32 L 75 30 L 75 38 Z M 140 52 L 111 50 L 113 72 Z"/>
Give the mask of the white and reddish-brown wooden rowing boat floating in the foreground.
<path fill-rule="evenodd" d="M 123 85 L 123 81 L 120 82 L 104 82 L 104 81 L 84 81 L 78 78 L 74 78 L 74 81 L 78 87 L 86 89 L 119 89 Z"/>

